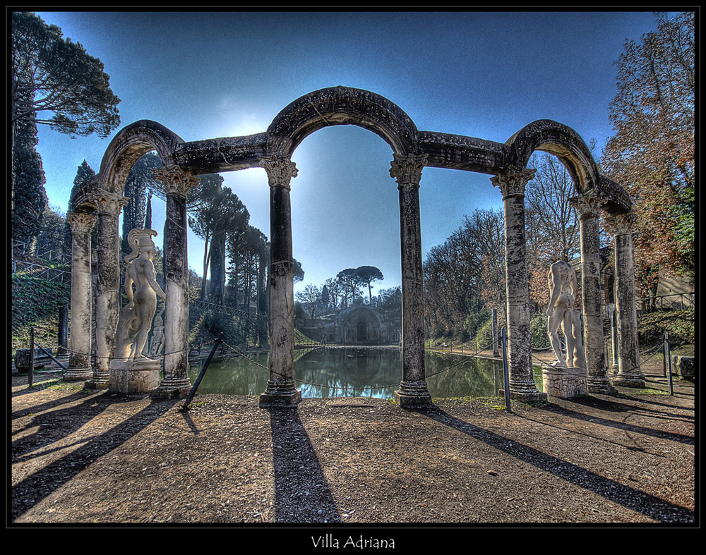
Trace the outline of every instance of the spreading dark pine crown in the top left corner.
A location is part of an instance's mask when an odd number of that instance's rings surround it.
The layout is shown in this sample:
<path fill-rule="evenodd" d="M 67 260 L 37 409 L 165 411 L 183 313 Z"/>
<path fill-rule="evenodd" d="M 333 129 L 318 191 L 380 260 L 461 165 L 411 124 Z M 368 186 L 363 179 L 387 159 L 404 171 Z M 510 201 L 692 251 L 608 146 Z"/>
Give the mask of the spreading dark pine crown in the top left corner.
<path fill-rule="evenodd" d="M 12 13 L 12 123 L 44 123 L 61 133 L 107 137 L 120 123 L 120 99 L 103 64 L 61 29 Z M 44 111 L 51 118 L 40 117 Z"/>

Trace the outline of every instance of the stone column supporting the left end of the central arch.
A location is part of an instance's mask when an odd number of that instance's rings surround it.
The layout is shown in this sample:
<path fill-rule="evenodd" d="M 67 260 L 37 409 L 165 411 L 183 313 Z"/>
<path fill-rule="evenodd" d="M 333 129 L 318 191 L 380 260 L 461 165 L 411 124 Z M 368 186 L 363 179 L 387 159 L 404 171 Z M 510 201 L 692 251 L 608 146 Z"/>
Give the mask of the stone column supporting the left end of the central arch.
<path fill-rule="evenodd" d="M 263 157 L 270 183 L 270 379 L 261 406 L 296 405 L 294 384 L 294 264 L 289 182 L 297 166 L 288 158 Z"/>

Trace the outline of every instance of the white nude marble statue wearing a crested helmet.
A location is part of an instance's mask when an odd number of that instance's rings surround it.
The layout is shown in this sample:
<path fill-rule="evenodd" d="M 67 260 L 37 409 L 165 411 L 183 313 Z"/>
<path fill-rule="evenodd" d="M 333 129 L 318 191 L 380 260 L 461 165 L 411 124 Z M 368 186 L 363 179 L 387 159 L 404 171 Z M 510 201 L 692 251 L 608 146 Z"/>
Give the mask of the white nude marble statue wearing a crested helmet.
<path fill-rule="evenodd" d="M 157 295 L 162 300 L 167 295 L 157 283 L 157 274 L 152 260 L 155 258 L 155 243 L 152 229 L 133 229 L 128 233 L 128 244 L 132 252 L 125 257 L 124 291 L 128 304 L 122 307 L 115 334 L 116 358 L 131 360 L 145 357 L 143 350 L 152 327 L 152 318 L 157 310 Z M 135 291 L 133 292 L 133 285 Z"/>

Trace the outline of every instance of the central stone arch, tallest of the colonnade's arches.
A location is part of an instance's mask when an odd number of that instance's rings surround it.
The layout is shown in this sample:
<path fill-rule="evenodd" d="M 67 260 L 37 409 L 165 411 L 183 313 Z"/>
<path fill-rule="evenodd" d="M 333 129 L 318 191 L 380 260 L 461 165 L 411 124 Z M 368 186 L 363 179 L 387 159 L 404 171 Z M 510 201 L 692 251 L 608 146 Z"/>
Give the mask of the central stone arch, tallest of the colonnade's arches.
<path fill-rule="evenodd" d="M 395 154 L 412 154 L 419 130 L 397 104 L 376 94 L 351 87 L 321 89 L 295 100 L 268 127 L 268 152 L 289 157 L 299 143 L 327 126 L 354 125 L 379 135 Z"/>

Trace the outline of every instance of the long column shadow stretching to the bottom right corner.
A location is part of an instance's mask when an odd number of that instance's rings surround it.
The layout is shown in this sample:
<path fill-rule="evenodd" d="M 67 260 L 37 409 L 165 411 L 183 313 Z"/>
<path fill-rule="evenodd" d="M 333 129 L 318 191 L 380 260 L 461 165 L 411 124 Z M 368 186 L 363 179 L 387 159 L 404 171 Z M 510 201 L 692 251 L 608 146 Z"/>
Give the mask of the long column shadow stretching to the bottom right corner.
<path fill-rule="evenodd" d="M 695 520 L 694 511 L 690 511 L 688 508 L 645 494 L 638 489 L 633 489 L 614 480 L 609 480 L 609 478 L 599 476 L 573 463 L 562 461 L 559 458 L 542 453 L 542 451 L 537 451 L 537 449 L 530 446 L 520 444 L 514 439 L 510 441 L 508 438 L 494 432 L 468 424 L 449 415 L 436 405 L 431 408 L 418 409 L 416 412 L 459 432 L 468 434 L 475 439 L 484 441 L 493 448 L 505 451 L 508 455 L 534 465 L 544 472 L 550 472 L 562 480 L 588 489 L 613 503 L 620 504 L 631 511 L 642 513 L 659 522 L 693 523 Z"/>

